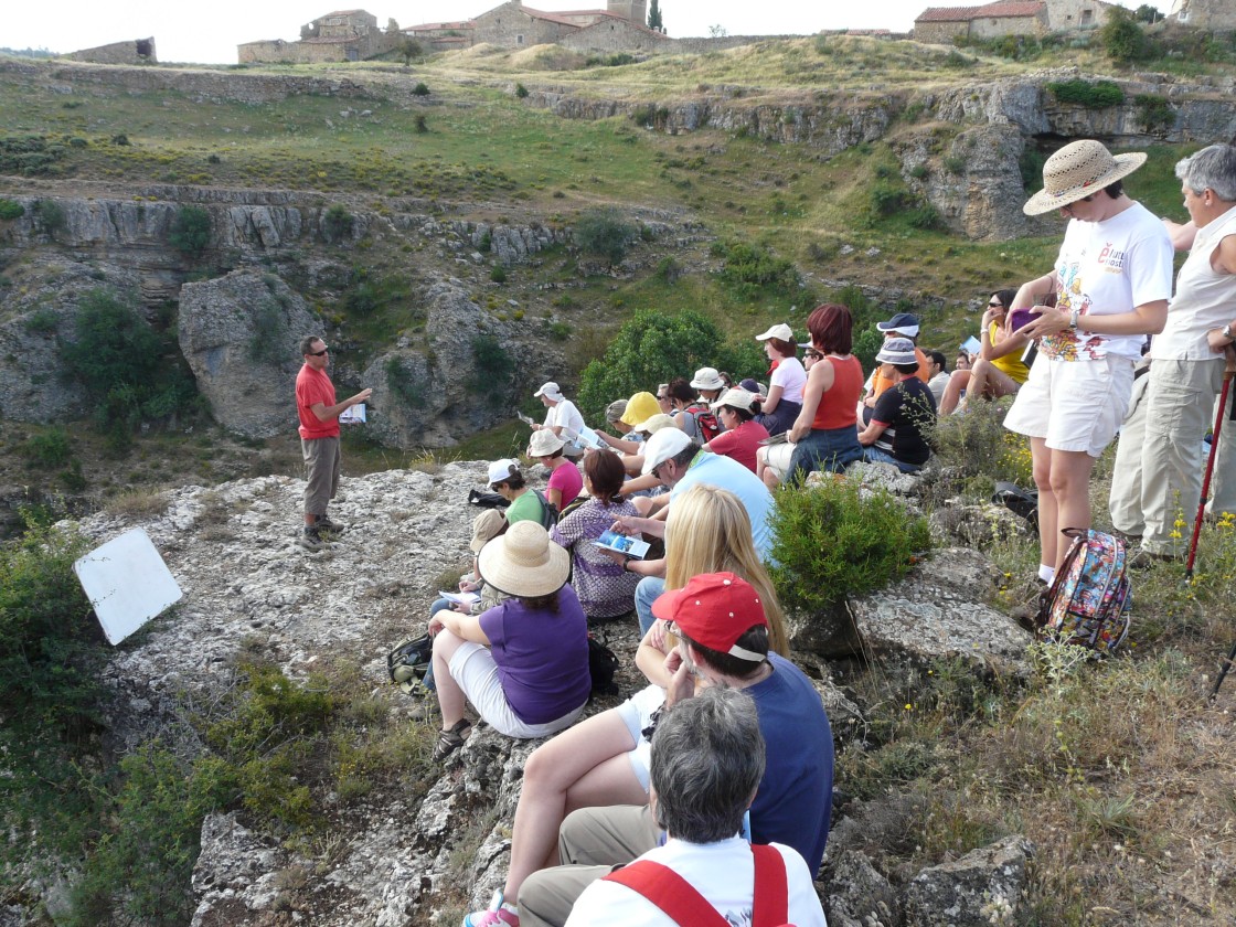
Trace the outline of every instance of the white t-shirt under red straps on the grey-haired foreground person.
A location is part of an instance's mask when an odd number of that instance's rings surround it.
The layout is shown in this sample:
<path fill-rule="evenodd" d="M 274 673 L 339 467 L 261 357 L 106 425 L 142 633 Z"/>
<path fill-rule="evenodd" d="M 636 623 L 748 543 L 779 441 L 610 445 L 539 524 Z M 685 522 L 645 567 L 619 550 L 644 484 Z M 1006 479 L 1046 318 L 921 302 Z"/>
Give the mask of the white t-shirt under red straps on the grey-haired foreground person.
<path fill-rule="evenodd" d="M 795 927 L 827 927 L 811 873 L 794 849 L 770 844 L 785 859 L 789 922 Z M 718 843 L 670 839 L 640 859 L 650 859 L 681 875 L 734 927 L 750 927 L 755 897 L 755 863 L 742 837 Z M 625 885 L 597 880 L 580 895 L 566 927 L 676 927 L 661 908 Z"/>

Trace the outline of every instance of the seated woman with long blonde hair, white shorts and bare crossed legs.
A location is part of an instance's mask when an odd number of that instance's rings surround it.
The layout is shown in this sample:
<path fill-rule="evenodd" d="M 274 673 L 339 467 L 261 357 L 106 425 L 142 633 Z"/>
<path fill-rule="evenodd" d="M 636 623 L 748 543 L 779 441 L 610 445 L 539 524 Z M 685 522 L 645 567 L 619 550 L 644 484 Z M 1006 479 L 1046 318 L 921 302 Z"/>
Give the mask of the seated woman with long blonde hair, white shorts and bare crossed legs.
<path fill-rule="evenodd" d="M 714 486 L 693 486 L 670 509 L 666 530 L 666 588 L 677 590 L 698 574 L 730 571 L 759 592 L 769 623 L 770 650 L 786 653 L 781 609 L 772 582 L 751 540 L 751 523 L 738 497 Z M 482 564 L 482 571 L 485 566 Z M 510 869 L 503 897 L 510 905 L 523 881 L 539 869 L 557 865 L 557 832 L 576 808 L 608 805 L 646 805 L 650 747 L 643 732 L 653 712 L 665 701 L 670 674 L 666 654 L 676 640 L 658 620 L 640 641 L 635 662 L 653 681 L 617 708 L 585 718 L 541 744 L 528 758 L 524 785 L 515 808 Z M 498 901 L 476 911 L 465 927 L 518 925 L 510 905 Z"/>

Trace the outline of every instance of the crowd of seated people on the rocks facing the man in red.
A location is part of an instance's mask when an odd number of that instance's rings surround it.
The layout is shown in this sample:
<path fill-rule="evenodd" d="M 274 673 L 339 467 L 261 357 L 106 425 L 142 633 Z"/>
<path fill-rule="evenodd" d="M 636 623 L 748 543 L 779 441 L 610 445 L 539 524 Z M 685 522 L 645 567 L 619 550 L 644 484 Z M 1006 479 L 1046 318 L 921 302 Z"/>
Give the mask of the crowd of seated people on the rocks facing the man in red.
<path fill-rule="evenodd" d="M 706 367 L 611 403 L 590 447 L 578 440 L 588 431 L 582 417 L 557 384 L 536 391 L 546 417 L 534 425 L 528 457 L 549 471 L 546 488 L 530 488 L 517 460 L 489 465 L 489 488 L 507 506 L 482 512 L 473 525 L 473 570 L 460 588 L 477 601 L 439 599 L 429 622 L 425 682 L 441 712 L 435 760 L 470 735 L 467 702 L 502 734 L 550 738 L 524 770 L 503 891 L 465 927 L 617 923 L 619 912 L 634 916 L 656 897 L 641 883 L 592 884 L 643 855 L 681 860 L 680 874 L 724 916 L 728 905 L 749 905 L 759 881 L 747 840 L 782 844 L 785 869 L 806 871 L 810 889 L 828 837 L 833 745 L 818 693 L 786 659 L 768 572 L 771 491 L 781 478 L 839 472 L 857 460 L 907 472 L 926 462 L 925 423 L 936 400 L 913 344 L 917 320 L 899 315 L 879 328 L 886 337 L 870 382 L 850 353 L 849 310 L 822 305 L 807 319 L 805 362 L 789 325 L 759 336 L 772 363 L 768 388 L 730 386 Z M 776 435 L 786 440 L 771 441 Z M 603 546 L 606 531 L 653 548 L 633 556 Z M 641 634 L 635 666 L 648 685 L 581 719 L 591 692 L 590 622 L 632 611 Z M 722 697 L 717 690 L 750 702 L 764 744 L 758 787 L 737 794 L 749 811 L 747 840 L 733 808 L 728 817 L 717 810 L 719 829 L 703 839 L 691 828 L 676 832 L 656 801 L 661 726 L 692 702 Z M 686 861 L 712 853 L 733 871 Z M 577 899 L 586 915 L 571 913 Z M 599 913 L 609 907 L 614 913 Z M 822 913 L 801 916 L 823 922 Z"/>

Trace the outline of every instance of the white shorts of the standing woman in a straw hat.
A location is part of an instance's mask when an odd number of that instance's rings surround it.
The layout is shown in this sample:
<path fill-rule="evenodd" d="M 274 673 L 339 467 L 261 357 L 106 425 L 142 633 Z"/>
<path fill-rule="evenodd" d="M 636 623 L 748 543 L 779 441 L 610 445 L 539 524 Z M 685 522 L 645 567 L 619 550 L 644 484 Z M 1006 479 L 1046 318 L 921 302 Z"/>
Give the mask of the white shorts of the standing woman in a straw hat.
<path fill-rule="evenodd" d="M 1052 450 L 1085 451 L 1098 457 L 1125 420 L 1132 391 L 1133 362 L 1127 357 L 1039 357 L 1004 424 L 1010 431 L 1047 439 Z"/>

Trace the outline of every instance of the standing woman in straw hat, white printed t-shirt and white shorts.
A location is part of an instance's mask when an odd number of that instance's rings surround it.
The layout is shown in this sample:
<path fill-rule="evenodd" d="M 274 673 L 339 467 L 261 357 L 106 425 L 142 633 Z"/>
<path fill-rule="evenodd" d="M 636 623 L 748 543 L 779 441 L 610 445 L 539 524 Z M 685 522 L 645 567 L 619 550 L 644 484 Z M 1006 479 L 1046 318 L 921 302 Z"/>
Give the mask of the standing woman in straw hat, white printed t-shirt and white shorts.
<path fill-rule="evenodd" d="M 1072 142 L 1047 159 L 1043 189 L 1022 206 L 1069 220 L 1056 267 L 1023 283 L 1009 307 L 1039 316 L 1021 329 L 1039 341 L 1038 360 L 1005 428 L 1030 438 L 1044 583 L 1068 550 L 1060 531 L 1090 527 L 1090 471 L 1125 418 L 1146 335 L 1167 320 L 1172 241 L 1121 179 L 1145 162 Z M 1051 293 L 1054 308 L 1043 304 Z"/>

